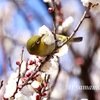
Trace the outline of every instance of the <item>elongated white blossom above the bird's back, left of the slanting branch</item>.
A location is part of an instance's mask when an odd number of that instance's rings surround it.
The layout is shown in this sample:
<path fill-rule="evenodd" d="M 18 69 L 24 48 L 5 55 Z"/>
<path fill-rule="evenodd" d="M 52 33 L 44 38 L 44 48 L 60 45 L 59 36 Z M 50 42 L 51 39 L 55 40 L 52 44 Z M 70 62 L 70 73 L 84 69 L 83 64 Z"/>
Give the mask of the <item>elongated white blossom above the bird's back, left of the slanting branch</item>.
<path fill-rule="evenodd" d="M 73 22 L 74 22 L 74 19 L 72 16 L 65 19 L 65 21 L 62 23 L 62 27 L 63 27 L 64 31 L 67 31 Z"/>

